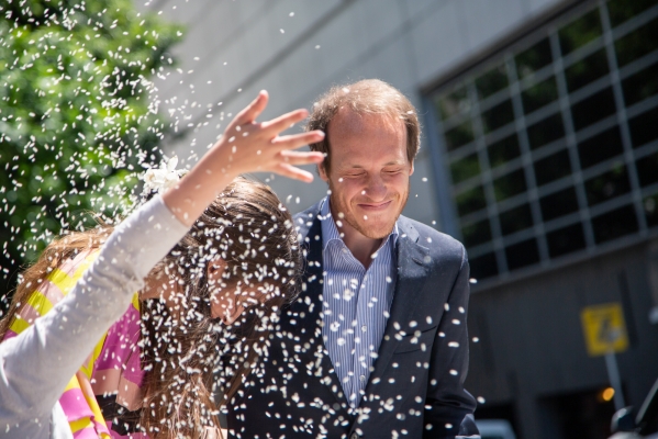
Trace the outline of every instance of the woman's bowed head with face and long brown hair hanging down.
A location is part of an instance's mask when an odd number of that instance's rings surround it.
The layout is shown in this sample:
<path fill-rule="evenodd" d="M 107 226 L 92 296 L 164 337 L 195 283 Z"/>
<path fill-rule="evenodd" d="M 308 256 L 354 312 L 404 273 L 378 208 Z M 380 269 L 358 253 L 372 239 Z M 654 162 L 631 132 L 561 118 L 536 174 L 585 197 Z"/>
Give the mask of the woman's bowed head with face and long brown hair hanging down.
<path fill-rule="evenodd" d="M 167 274 L 170 292 L 163 294 L 168 305 L 144 306 L 147 405 L 163 408 L 146 407 L 147 431 L 175 432 L 186 418 L 212 423 L 213 372 L 230 398 L 263 353 L 278 311 L 294 297 L 301 269 L 292 217 L 277 195 L 263 183 L 232 182 L 154 272 Z M 164 367 L 171 362 L 182 364 Z"/>

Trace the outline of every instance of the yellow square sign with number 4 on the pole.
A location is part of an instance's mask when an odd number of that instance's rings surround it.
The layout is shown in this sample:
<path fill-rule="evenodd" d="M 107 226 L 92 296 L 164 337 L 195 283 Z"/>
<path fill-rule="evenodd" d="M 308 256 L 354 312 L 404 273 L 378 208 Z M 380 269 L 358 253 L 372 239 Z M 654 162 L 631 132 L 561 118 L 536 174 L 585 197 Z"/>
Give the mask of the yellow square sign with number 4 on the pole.
<path fill-rule="evenodd" d="M 590 357 L 623 352 L 628 348 L 624 313 L 618 303 L 587 306 L 580 313 Z"/>

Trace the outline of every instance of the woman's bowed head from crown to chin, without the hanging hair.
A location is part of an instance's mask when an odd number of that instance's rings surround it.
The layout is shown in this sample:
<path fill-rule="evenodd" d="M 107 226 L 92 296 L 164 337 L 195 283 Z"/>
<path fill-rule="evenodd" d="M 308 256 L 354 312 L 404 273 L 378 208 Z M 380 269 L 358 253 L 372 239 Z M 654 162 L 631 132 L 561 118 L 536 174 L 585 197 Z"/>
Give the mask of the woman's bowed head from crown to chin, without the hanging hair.
<path fill-rule="evenodd" d="M 235 180 L 188 237 L 181 244 L 197 249 L 191 258 L 205 260 L 211 314 L 224 323 L 252 306 L 277 311 L 297 291 L 302 259 L 292 217 L 265 184 Z"/>

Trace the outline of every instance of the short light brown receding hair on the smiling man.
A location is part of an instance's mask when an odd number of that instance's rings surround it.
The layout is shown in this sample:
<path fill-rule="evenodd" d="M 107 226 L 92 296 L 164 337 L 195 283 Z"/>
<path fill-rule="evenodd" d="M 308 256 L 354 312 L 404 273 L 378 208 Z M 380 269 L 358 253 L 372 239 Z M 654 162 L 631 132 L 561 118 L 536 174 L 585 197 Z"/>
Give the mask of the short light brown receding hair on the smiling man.
<path fill-rule="evenodd" d="M 331 164 L 328 124 L 343 108 L 356 114 L 382 114 L 400 119 L 406 127 L 406 158 L 413 162 L 421 146 L 421 124 L 416 109 L 400 90 L 379 79 L 364 79 L 345 86 L 332 87 L 317 102 L 309 117 L 305 131 L 322 130 L 325 137 L 311 144 L 311 150 L 326 154 L 322 166 Z"/>

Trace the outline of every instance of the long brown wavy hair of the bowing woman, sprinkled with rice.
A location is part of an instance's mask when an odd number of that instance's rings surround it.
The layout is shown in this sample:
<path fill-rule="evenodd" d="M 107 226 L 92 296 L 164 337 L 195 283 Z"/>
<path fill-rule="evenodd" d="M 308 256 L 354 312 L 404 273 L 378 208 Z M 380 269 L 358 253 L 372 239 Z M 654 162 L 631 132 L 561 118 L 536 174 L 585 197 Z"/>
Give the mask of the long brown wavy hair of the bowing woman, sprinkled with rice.
<path fill-rule="evenodd" d="M 0 335 L 34 285 L 66 258 L 100 248 L 111 232 L 99 227 L 53 241 L 23 273 Z M 211 313 L 216 290 L 207 275 L 218 258 L 226 264 L 220 294 L 233 294 L 237 285 L 263 292 L 258 301 L 236 297 L 245 312 L 231 326 Z M 166 275 L 174 294 L 141 306 L 143 431 L 152 438 L 202 438 L 219 430 L 218 407 L 232 399 L 266 354 L 269 331 L 281 306 L 294 299 L 301 269 L 292 217 L 277 195 L 263 183 L 234 180 L 149 273 Z"/>

